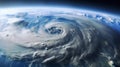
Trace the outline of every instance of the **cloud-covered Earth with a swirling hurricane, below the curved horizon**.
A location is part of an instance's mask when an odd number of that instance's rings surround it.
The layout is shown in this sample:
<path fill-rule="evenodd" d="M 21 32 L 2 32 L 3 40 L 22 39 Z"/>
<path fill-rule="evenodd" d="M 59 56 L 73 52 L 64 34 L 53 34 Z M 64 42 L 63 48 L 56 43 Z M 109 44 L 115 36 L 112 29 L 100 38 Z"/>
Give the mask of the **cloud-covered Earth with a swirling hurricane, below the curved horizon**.
<path fill-rule="evenodd" d="M 120 18 L 53 7 L 0 10 L 0 67 L 120 66 Z"/>

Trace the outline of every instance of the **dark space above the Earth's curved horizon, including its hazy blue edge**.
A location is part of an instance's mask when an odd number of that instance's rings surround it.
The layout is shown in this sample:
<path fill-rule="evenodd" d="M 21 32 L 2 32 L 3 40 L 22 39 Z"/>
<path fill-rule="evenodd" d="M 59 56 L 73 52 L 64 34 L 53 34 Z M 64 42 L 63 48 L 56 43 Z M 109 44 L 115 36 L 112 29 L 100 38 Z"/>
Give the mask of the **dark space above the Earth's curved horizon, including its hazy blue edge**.
<path fill-rule="evenodd" d="M 23 5 L 57 5 L 91 8 L 120 15 L 119 0 L 0 0 L 0 7 Z"/>

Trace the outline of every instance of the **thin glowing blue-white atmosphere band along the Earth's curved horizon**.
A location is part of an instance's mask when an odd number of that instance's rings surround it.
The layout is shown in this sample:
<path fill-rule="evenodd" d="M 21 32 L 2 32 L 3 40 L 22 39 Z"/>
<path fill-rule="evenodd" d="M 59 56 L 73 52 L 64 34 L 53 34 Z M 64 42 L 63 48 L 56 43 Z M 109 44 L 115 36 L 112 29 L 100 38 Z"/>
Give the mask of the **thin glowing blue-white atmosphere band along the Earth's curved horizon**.
<path fill-rule="evenodd" d="M 21 6 L 22 5 L 22 6 Z M 99 10 L 97 8 L 90 8 L 88 6 L 78 6 L 78 7 L 74 7 L 74 6 L 69 6 L 69 5 L 45 5 L 45 4 L 13 4 L 13 5 L 9 5 L 9 6 L 4 6 L 4 7 L 0 7 L 1 9 L 6 9 L 6 8 L 41 8 L 41 7 L 47 7 L 47 8 L 67 8 L 67 9 L 77 9 L 77 10 L 85 10 L 85 11 L 89 11 L 89 12 L 94 12 L 94 13 L 99 13 L 99 14 L 106 14 L 106 15 L 112 15 L 114 17 L 119 17 L 119 14 L 116 13 L 111 13 L 105 10 Z"/>

